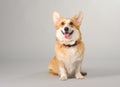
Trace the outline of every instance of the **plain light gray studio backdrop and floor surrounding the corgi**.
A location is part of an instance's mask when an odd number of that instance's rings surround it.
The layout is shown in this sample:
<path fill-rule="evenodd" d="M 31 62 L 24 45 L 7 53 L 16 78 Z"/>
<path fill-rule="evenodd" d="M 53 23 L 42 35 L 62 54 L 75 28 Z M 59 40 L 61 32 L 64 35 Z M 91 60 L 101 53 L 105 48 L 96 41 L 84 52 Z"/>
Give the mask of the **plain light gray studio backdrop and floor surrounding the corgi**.
<path fill-rule="evenodd" d="M 84 12 L 84 80 L 48 74 L 54 56 L 52 12 Z M 120 0 L 0 0 L 0 87 L 119 87 Z"/>

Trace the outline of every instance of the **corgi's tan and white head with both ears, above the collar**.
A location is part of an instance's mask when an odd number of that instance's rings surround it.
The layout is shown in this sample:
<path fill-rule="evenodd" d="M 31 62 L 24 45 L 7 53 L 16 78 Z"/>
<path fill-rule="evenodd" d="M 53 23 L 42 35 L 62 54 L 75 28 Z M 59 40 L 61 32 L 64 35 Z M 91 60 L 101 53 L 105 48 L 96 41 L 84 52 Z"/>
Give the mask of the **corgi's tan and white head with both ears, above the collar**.
<path fill-rule="evenodd" d="M 53 22 L 56 27 L 56 39 L 61 44 L 74 44 L 81 39 L 80 25 L 83 13 L 79 12 L 72 18 L 63 18 L 59 13 L 53 12 Z"/>

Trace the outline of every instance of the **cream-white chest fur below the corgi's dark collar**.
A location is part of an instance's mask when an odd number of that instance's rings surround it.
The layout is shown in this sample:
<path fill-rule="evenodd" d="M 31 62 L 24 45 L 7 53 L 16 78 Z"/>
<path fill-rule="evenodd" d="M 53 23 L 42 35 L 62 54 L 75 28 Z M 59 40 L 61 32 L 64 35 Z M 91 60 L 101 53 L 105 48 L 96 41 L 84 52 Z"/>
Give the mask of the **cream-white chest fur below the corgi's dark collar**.
<path fill-rule="evenodd" d="M 76 47 L 66 47 L 65 54 L 59 52 L 57 56 L 64 63 L 68 74 L 72 74 L 82 60 L 81 52 Z"/>

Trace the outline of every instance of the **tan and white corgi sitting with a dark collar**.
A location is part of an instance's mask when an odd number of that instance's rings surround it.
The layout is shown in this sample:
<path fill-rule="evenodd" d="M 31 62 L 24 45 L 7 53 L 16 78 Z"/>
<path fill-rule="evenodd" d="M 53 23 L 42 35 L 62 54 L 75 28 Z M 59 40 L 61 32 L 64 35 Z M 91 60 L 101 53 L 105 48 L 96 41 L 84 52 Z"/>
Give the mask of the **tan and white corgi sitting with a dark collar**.
<path fill-rule="evenodd" d="M 56 28 L 55 56 L 49 62 L 49 73 L 60 76 L 60 80 L 70 77 L 83 79 L 87 74 L 81 69 L 85 51 L 80 32 L 83 12 L 72 18 L 63 18 L 58 12 L 53 12 L 53 22 Z"/>

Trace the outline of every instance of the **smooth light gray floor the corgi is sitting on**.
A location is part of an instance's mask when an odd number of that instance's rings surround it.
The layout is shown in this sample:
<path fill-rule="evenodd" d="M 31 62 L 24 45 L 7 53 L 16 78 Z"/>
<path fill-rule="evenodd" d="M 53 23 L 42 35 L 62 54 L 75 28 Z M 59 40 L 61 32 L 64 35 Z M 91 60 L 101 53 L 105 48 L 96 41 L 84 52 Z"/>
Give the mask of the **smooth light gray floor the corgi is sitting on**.
<path fill-rule="evenodd" d="M 88 61 L 83 80 L 60 81 L 48 74 L 47 62 L 41 60 L 4 60 L 0 62 L 0 87 L 119 87 L 119 61 Z M 101 64 L 102 62 L 102 64 Z"/>

